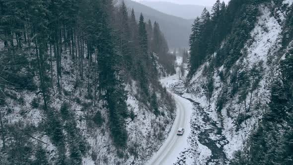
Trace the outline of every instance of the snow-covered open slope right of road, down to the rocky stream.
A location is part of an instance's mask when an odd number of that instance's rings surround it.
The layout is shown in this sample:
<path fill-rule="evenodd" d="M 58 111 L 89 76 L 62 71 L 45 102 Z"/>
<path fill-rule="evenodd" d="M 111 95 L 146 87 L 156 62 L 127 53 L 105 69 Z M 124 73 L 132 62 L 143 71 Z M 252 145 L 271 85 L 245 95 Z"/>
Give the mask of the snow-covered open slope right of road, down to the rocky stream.
<path fill-rule="evenodd" d="M 181 158 L 193 160 L 194 165 L 229 164 L 233 153 L 244 148 L 268 108 L 271 84 L 280 74 L 278 65 L 284 56 L 284 51 L 280 51 L 283 49 L 283 26 L 292 2 L 284 0 L 276 5 L 272 1 L 259 6 L 260 15 L 242 49 L 243 56 L 228 71 L 226 81 L 221 80 L 221 74 L 226 72 L 224 65 L 214 72 L 214 91 L 210 99 L 206 87 L 209 77 L 205 75 L 206 68 L 211 65 L 209 61 L 197 70 L 187 87 L 182 82 L 173 85 L 183 97 L 195 101 L 190 150 L 182 153 Z M 285 52 L 290 47 L 292 44 L 284 48 Z M 214 55 L 216 57 L 217 53 Z M 258 74 L 248 78 L 252 85 L 243 89 L 246 96 L 242 97 L 240 91 L 230 94 L 232 77 L 236 75 L 240 79 L 241 74 L 246 73 Z"/>

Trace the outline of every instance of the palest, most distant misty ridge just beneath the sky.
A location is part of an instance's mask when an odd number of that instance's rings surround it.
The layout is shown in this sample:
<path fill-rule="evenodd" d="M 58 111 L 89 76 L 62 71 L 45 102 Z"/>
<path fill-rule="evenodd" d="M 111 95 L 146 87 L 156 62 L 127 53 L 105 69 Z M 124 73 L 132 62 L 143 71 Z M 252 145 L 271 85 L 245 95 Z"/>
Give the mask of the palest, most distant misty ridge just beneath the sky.
<path fill-rule="evenodd" d="M 194 19 L 194 17 L 200 16 L 205 7 L 207 7 L 208 10 L 211 9 L 210 6 L 193 5 L 193 4 L 176 4 L 176 3 L 166 2 L 166 1 L 143 0 L 143 1 L 140 1 L 140 3 L 145 4 L 163 13 L 179 16 L 184 19 Z"/>

